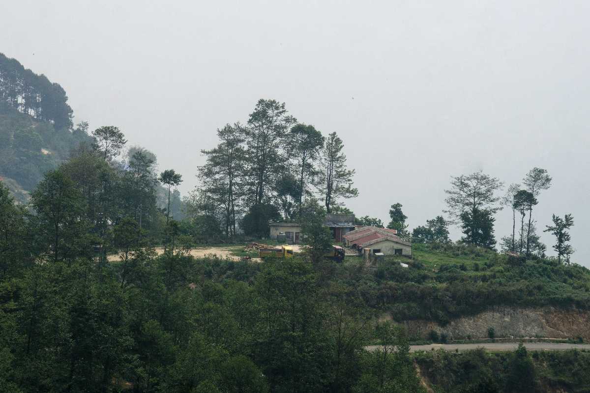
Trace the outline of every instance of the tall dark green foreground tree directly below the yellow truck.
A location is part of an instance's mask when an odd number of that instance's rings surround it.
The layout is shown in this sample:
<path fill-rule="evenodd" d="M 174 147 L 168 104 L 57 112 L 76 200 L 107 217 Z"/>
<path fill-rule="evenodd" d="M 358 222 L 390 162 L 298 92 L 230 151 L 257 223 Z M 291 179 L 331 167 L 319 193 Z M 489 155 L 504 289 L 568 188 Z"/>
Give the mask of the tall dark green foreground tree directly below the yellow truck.
<path fill-rule="evenodd" d="M 326 391 L 329 350 L 312 265 L 271 258 L 263 262 L 254 290 L 260 305 L 254 359 L 270 391 Z"/>

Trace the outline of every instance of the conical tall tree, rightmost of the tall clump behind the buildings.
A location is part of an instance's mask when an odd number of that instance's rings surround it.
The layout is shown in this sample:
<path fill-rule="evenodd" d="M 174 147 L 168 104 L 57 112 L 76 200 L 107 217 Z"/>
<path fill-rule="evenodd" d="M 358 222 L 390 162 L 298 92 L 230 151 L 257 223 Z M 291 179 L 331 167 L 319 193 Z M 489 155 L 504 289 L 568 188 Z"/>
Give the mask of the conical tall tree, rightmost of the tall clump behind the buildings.
<path fill-rule="evenodd" d="M 326 138 L 322 151 L 322 175 L 320 192 L 326 205 L 326 212 L 332 213 L 340 198 L 355 198 L 359 191 L 352 186 L 354 169 L 346 168 L 346 155 L 342 152 L 344 145 L 336 132 Z"/>

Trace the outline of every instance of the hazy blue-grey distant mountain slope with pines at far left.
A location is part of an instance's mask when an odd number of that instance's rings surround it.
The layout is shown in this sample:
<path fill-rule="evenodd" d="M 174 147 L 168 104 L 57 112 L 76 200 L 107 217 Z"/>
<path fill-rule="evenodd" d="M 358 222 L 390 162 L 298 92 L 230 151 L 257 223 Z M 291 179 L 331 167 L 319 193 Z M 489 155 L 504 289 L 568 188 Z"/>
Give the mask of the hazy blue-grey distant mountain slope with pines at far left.
<path fill-rule="evenodd" d="M 72 128 L 67 99 L 59 84 L 0 54 L 0 180 L 20 202 L 71 149 L 92 140 L 86 124 Z"/>

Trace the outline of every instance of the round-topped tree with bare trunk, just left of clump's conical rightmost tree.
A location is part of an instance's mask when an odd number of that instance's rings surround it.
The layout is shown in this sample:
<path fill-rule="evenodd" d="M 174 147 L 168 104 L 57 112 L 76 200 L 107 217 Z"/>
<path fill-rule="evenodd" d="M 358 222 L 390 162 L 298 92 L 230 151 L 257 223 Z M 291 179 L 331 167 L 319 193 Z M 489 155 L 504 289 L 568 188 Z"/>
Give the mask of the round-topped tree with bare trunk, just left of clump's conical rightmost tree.
<path fill-rule="evenodd" d="M 324 137 L 313 125 L 297 124 L 290 131 L 290 155 L 297 162 L 299 177 L 299 215 L 303 209 L 303 195 L 309 194 L 307 182 L 316 181 L 319 175 L 315 162 L 319 160 Z"/>

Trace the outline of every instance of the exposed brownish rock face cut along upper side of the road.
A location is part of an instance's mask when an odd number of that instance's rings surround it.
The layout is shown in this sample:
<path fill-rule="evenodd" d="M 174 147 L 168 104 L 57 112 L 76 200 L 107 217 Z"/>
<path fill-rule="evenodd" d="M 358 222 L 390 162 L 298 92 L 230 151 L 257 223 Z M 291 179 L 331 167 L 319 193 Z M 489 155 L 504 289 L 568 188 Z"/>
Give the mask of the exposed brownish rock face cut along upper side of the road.
<path fill-rule="evenodd" d="M 404 321 L 404 324 L 411 336 L 423 338 L 431 330 L 445 333 L 449 339 L 487 338 L 488 329 L 493 327 L 497 338 L 582 337 L 590 341 L 590 311 L 578 309 L 494 307 L 477 315 L 453 319 L 444 327 L 425 320 Z"/>

